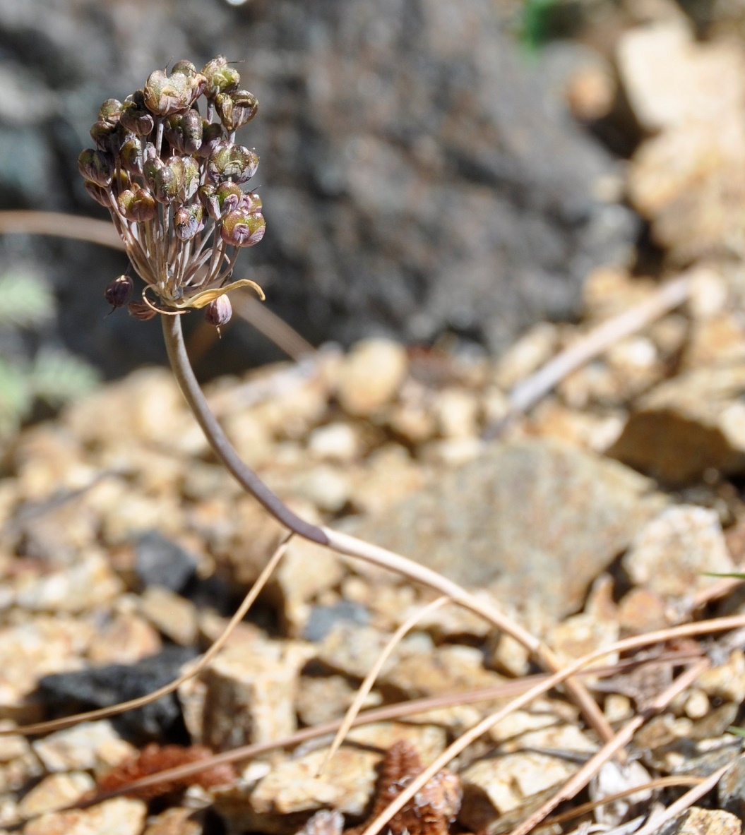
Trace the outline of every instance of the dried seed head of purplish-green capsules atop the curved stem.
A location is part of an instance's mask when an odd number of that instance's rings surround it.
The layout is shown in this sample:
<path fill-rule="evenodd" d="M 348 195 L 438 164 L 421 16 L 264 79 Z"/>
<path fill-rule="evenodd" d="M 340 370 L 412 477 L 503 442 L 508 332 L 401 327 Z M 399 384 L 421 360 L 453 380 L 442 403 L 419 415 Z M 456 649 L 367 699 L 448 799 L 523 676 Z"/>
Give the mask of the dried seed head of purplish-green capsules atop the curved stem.
<path fill-rule="evenodd" d="M 220 326 L 231 317 L 227 291 L 251 286 L 263 297 L 253 281 L 227 283 L 239 249 L 265 230 L 261 198 L 241 189 L 259 158 L 235 141 L 257 108 L 240 83 L 222 55 L 200 71 L 178 61 L 170 73 L 151 73 L 124 102 L 101 105 L 90 130 L 96 147 L 80 154 L 79 170 L 146 285 L 142 302 L 129 302 L 132 280 L 119 276 L 106 290 L 113 306 L 129 303 L 145 319 L 205 308 L 207 321 Z"/>

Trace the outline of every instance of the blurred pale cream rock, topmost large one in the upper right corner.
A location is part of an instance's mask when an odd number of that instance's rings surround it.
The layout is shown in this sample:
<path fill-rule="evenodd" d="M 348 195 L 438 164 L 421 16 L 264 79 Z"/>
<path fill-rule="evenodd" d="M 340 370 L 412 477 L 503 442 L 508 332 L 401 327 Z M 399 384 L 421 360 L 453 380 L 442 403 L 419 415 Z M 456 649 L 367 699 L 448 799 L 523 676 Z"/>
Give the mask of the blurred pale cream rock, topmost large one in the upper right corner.
<path fill-rule="evenodd" d="M 745 104 L 745 58 L 732 43 L 697 43 L 681 23 L 628 30 L 617 50 L 621 81 L 648 130 L 701 121 Z"/>

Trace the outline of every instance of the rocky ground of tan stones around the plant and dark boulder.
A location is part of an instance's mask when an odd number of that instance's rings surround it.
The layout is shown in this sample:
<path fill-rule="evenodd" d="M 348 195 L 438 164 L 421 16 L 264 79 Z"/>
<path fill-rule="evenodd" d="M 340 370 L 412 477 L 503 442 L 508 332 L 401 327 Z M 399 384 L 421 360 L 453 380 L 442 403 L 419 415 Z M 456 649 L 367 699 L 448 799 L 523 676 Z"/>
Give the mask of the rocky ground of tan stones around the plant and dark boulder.
<path fill-rule="evenodd" d="M 627 5 L 615 63 L 576 71 L 566 94 L 580 115 L 607 114 L 622 94 L 634 115 L 643 139 L 623 188 L 650 225 L 663 277 L 686 278 L 682 305 L 566 374 L 528 413 L 512 408 L 516 387 L 656 298 L 661 276 L 595 267 L 579 323 L 541 322 L 499 359 L 448 342 L 424 350 L 379 338 L 207 388 L 236 449 L 293 509 L 476 590 L 561 663 L 623 637 L 741 615 L 745 605 L 737 584 L 707 574 L 745 559 L 745 47 L 721 21 L 706 28 L 672 4 Z M 695 38 L 694 22 L 706 40 Z M 601 40 L 607 21 L 593 25 L 587 38 Z M 163 369 L 134 372 L 24 430 L 0 480 L 6 729 L 173 680 L 220 634 L 281 535 L 212 458 Z M 464 696 L 359 726 L 320 773 L 328 732 L 271 747 L 339 720 L 389 635 L 435 596 L 292 542 L 256 610 L 174 696 L 0 738 L 0 827 L 26 835 L 356 827 L 420 761 L 432 762 L 536 672 L 515 640 L 448 605 L 403 638 L 364 707 L 501 688 L 487 701 Z M 666 650 L 701 646 L 679 639 Z M 658 777 L 707 777 L 732 760 L 675 827 L 740 832 L 745 761 L 728 731 L 742 722 L 742 635 L 706 650 L 712 667 L 636 731 L 632 775 L 608 788 L 609 765 L 577 802 Z M 609 652 L 604 663 L 629 657 Z M 587 684 L 618 728 L 674 672 L 616 671 Z M 56 811 L 97 787 L 256 744 L 265 751 L 167 792 Z M 508 832 L 600 744 L 572 701 L 551 691 L 467 747 L 394 819 L 394 835 Z M 644 788 L 636 805 L 592 812 L 595 824 L 614 827 L 682 791 Z M 312 817 L 319 810 L 331 813 Z"/>

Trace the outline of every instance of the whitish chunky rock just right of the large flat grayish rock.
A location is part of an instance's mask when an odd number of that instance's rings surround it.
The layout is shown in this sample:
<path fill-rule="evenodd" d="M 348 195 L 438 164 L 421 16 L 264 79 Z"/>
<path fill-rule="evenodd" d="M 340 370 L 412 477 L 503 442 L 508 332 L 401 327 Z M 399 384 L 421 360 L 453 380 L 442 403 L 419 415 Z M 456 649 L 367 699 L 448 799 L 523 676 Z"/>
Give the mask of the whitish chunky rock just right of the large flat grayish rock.
<path fill-rule="evenodd" d="M 734 570 L 717 514 L 678 505 L 639 531 L 623 566 L 631 581 L 661 597 L 692 595 L 715 581 L 706 572 Z"/>

